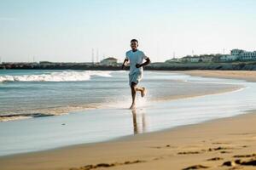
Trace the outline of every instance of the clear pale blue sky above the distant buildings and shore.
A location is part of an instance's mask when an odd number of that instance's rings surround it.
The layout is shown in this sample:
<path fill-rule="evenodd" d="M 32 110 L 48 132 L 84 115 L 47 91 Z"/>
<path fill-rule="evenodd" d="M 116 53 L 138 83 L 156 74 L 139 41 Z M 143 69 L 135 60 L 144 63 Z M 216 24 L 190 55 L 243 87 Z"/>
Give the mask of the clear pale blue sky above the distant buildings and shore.
<path fill-rule="evenodd" d="M 2 61 L 125 58 L 131 38 L 154 62 L 256 50 L 254 0 L 0 0 Z"/>

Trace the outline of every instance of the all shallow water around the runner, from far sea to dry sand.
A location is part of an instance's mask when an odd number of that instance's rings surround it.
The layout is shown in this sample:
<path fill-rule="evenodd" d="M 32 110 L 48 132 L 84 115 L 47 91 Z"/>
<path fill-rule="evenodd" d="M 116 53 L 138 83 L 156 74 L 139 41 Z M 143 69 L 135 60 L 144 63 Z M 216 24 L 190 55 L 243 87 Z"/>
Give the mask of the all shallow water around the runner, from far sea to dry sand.
<path fill-rule="evenodd" d="M 49 105 L 55 110 L 65 110 L 70 103 L 93 104 L 97 108 L 90 111 L 85 108 L 81 111 L 68 110 L 71 114 L 61 116 L 0 122 L 0 156 L 102 142 L 236 116 L 256 109 L 255 82 L 145 71 L 140 84 L 148 88 L 148 94 L 143 99 L 137 97 L 137 109 L 131 111 L 127 109 L 131 105 L 127 71 L 6 71 L 1 74 L 2 80 L 7 75 L 16 78 L 0 83 L 2 116 L 12 111 L 21 114 L 19 108 L 25 112 L 50 111 Z M 48 78 L 50 75 L 72 74 L 89 75 L 89 78 L 81 80 L 79 76 L 79 81 L 73 77 L 72 81 L 71 77 L 67 81 L 62 76 L 57 78 L 58 81 L 19 79 L 28 75 L 41 78 L 44 74 L 49 75 Z M 236 90 L 221 94 L 172 98 L 234 88 Z"/>

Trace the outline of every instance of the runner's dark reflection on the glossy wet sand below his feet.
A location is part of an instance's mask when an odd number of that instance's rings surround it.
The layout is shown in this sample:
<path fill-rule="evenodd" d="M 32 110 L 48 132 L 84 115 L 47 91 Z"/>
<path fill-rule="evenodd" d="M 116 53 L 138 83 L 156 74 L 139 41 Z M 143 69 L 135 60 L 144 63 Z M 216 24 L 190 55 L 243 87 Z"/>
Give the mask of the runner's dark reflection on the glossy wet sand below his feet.
<path fill-rule="evenodd" d="M 131 110 L 132 121 L 133 121 L 133 133 L 144 133 L 146 131 L 146 119 L 144 110 L 137 111 L 136 109 Z"/>

